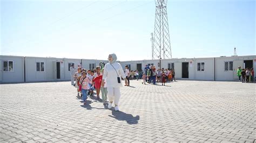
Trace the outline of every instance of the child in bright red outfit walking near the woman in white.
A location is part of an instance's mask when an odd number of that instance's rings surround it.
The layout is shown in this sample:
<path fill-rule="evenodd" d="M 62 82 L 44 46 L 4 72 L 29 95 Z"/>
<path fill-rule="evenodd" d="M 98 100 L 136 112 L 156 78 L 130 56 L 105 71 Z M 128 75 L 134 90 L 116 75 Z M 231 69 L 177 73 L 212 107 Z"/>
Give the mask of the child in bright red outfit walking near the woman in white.
<path fill-rule="evenodd" d="M 94 79 L 92 83 L 95 83 L 95 89 L 96 89 L 96 94 L 97 94 L 97 100 L 99 100 L 99 91 L 100 91 L 100 86 L 102 85 L 102 73 L 100 73 L 100 67 L 96 67 L 96 73 L 94 74 Z"/>

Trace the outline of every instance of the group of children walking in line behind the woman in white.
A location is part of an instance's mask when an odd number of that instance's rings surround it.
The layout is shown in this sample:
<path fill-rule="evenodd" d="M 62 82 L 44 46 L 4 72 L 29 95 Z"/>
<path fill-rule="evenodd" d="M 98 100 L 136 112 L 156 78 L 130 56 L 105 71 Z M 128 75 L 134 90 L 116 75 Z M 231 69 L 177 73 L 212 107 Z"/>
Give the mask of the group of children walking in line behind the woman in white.
<path fill-rule="evenodd" d="M 97 100 L 100 100 L 99 92 L 101 90 L 103 104 L 107 104 L 106 83 L 104 87 L 101 87 L 104 69 L 102 69 L 102 72 L 100 71 L 101 68 L 99 66 L 96 69 L 89 70 L 82 69 L 82 67 L 77 69 L 74 76 L 76 81 L 75 87 L 77 88 L 77 96 L 82 97 L 84 105 L 86 105 L 87 95 L 91 98 L 93 97 L 93 90 L 96 90 Z"/>

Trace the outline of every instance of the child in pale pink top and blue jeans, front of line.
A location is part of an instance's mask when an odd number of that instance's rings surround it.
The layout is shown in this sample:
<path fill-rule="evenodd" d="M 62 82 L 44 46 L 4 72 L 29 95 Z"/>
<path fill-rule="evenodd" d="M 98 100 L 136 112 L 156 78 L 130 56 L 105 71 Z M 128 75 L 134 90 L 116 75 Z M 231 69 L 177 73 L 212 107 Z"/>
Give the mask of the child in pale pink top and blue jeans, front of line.
<path fill-rule="evenodd" d="M 82 85 L 84 105 L 86 105 L 87 91 L 90 89 L 89 83 L 92 84 L 91 81 L 89 80 L 89 78 L 86 77 L 86 72 L 83 71 L 82 72 L 82 77 L 80 78 L 80 84 Z"/>

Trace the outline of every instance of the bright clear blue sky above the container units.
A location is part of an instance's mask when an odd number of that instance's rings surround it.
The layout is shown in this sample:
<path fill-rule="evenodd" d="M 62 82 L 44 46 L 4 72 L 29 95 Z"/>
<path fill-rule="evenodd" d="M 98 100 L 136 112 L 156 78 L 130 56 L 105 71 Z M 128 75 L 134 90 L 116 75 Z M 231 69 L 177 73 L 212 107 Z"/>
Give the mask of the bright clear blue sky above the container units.
<path fill-rule="evenodd" d="M 154 1 L 0 0 L 1 55 L 151 59 Z M 173 58 L 255 55 L 254 0 L 169 0 Z"/>

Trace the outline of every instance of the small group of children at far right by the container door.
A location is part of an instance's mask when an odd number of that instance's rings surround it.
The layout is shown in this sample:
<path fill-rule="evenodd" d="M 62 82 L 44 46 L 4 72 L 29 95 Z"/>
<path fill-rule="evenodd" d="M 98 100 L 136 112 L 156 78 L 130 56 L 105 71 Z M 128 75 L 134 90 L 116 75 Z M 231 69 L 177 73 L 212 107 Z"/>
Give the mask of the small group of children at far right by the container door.
<path fill-rule="evenodd" d="M 246 69 L 241 69 L 241 67 L 238 67 L 237 75 L 239 77 L 239 81 L 241 80 L 242 77 L 242 83 L 249 83 L 249 82 L 254 82 L 254 70 L 253 68 L 246 68 Z"/>

